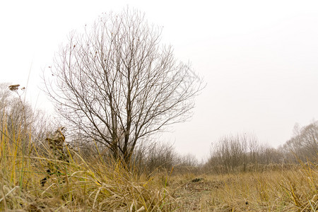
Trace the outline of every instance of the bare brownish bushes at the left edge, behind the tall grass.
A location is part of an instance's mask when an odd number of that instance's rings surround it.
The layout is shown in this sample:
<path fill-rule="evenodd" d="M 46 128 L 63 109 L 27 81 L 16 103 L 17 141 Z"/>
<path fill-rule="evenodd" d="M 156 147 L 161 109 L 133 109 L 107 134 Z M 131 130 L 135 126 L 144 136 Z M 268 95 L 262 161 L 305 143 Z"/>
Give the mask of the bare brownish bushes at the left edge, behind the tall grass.
<path fill-rule="evenodd" d="M 20 139 L 25 147 L 30 141 L 41 143 L 51 129 L 52 120 L 24 100 L 25 88 L 9 86 L 11 83 L 0 83 L 0 139 L 11 143 Z"/>

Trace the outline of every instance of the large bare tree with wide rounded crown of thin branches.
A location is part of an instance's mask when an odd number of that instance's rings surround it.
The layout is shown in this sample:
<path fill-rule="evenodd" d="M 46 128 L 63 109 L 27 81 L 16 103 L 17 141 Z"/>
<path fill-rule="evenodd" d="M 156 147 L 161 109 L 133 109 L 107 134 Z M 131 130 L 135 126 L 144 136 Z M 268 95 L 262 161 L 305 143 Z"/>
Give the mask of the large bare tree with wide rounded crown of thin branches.
<path fill-rule="evenodd" d="M 45 79 L 68 128 L 128 161 L 141 139 L 191 117 L 202 80 L 160 45 L 160 35 L 129 9 L 71 35 Z"/>

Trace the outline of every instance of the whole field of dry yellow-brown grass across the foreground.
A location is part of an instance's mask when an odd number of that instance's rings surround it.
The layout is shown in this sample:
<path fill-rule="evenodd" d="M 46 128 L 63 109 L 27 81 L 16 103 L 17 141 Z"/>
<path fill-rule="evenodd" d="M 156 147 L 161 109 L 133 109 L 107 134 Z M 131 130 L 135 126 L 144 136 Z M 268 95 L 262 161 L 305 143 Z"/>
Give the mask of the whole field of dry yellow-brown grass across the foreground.
<path fill-rule="evenodd" d="M 25 139 L 25 136 L 24 136 Z M 317 211 L 318 168 L 215 175 L 174 170 L 136 175 L 120 161 L 49 159 L 49 151 L 1 131 L 0 211 Z M 71 152 L 71 151 L 70 151 Z M 44 187 L 50 162 L 58 172 Z"/>

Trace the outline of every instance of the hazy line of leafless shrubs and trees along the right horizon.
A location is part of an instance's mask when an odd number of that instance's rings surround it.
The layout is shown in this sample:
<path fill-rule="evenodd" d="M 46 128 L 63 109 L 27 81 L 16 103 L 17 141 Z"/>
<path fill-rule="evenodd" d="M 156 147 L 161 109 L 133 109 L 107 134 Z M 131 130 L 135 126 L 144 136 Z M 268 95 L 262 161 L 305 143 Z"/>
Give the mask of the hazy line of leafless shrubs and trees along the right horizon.
<path fill-rule="evenodd" d="M 294 135 L 282 146 L 273 148 L 255 136 L 224 136 L 213 143 L 205 170 L 241 172 L 288 167 L 299 163 L 317 164 L 318 122 L 295 125 Z"/>

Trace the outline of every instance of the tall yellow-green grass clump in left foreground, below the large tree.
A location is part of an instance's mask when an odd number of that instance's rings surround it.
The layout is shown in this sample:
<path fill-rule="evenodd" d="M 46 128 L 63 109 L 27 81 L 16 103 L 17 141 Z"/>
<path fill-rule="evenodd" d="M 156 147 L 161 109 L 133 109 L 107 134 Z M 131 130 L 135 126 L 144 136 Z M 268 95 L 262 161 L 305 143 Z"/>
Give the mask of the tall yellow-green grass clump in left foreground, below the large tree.
<path fill-rule="evenodd" d="M 66 163 L 55 160 L 49 149 L 31 136 L 9 134 L 6 124 L 0 130 L 0 211 L 175 209 L 164 187 L 136 177 L 121 161 L 84 160 L 80 153 L 68 149 L 71 159 Z M 40 180 L 47 175 L 48 162 L 58 167 L 58 172 L 42 187 Z"/>

